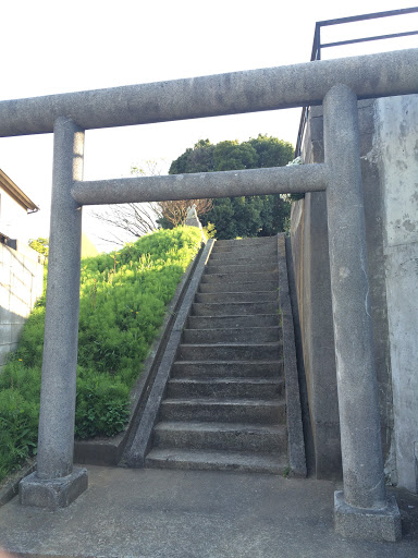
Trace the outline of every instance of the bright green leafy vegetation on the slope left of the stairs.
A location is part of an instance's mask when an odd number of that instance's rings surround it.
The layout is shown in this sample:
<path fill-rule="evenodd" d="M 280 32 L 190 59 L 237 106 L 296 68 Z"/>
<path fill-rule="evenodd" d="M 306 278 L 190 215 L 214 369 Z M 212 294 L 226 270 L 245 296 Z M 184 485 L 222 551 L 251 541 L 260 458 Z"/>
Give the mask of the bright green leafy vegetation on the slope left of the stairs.
<path fill-rule="evenodd" d="M 75 435 L 121 432 L 128 398 L 201 233 L 158 230 L 82 260 Z M 45 295 L 0 374 L 0 481 L 36 452 Z"/>

